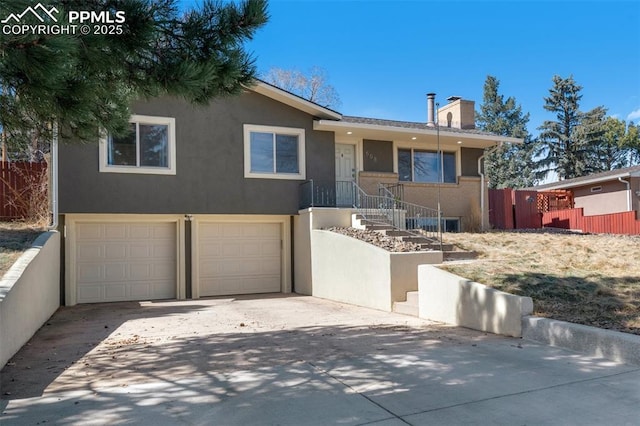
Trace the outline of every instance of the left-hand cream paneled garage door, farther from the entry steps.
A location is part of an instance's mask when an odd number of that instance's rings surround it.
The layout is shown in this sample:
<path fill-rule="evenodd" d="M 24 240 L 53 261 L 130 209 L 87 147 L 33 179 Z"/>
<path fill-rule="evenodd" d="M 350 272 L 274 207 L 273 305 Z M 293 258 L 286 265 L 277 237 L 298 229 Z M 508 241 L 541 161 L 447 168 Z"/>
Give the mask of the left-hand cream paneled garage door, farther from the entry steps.
<path fill-rule="evenodd" d="M 175 223 L 76 223 L 78 303 L 176 297 Z"/>

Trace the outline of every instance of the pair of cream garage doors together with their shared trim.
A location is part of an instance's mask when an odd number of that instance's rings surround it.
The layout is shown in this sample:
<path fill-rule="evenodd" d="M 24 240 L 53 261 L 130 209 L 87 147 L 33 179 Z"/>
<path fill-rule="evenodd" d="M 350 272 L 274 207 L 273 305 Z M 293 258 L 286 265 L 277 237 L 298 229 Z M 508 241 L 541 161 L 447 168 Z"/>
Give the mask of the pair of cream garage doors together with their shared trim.
<path fill-rule="evenodd" d="M 288 216 L 67 215 L 65 228 L 67 305 L 290 291 Z"/>

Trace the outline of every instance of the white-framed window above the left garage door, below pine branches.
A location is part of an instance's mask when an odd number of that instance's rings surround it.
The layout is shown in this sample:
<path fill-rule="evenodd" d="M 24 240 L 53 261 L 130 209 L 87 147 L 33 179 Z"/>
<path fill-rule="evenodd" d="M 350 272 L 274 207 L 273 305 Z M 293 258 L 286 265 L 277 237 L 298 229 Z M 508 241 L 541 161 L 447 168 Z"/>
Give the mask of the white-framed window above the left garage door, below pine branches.
<path fill-rule="evenodd" d="M 113 173 L 176 173 L 175 119 L 132 115 L 129 132 L 100 141 L 100 171 Z"/>

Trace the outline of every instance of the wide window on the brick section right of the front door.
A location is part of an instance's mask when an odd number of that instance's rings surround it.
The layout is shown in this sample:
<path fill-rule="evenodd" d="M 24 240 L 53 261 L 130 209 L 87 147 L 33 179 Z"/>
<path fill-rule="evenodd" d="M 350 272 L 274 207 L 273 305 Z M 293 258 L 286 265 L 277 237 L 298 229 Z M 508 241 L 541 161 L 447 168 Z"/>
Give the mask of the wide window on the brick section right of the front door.
<path fill-rule="evenodd" d="M 456 154 L 412 148 L 398 149 L 398 179 L 405 182 L 455 183 Z M 442 166 L 442 176 L 439 176 Z M 443 179 L 444 178 L 444 179 Z"/>

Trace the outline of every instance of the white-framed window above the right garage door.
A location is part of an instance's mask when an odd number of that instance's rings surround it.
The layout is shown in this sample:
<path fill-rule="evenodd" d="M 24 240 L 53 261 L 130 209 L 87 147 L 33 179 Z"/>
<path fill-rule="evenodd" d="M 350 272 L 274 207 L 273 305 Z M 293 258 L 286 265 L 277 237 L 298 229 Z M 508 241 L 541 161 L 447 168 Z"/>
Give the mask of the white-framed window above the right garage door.
<path fill-rule="evenodd" d="M 245 124 L 244 176 L 305 179 L 304 129 Z"/>

